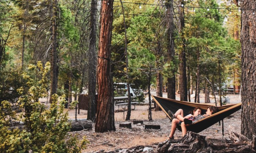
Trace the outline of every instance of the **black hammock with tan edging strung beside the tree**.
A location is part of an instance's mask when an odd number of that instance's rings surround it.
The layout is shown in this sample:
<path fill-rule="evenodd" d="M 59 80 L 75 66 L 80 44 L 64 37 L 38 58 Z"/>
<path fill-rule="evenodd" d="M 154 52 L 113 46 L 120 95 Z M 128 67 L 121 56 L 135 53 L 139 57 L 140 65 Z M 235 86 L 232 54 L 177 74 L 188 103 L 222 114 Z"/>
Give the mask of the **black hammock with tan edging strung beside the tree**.
<path fill-rule="evenodd" d="M 152 96 L 152 98 L 155 100 L 156 104 L 162 108 L 164 113 L 171 119 L 171 117 L 168 115 L 168 110 L 171 110 L 173 113 L 175 113 L 178 109 L 183 109 L 184 116 L 188 115 L 188 112 L 193 110 L 196 107 L 200 107 L 202 109 L 202 114 L 205 114 L 207 111 L 207 108 L 212 105 L 208 104 L 199 104 L 199 103 L 191 103 L 191 102 L 185 102 L 185 101 L 179 101 L 174 99 L 168 99 L 168 98 L 162 98 L 157 96 Z M 219 112 L 214 113 L 208 117 L 205 117 L 202 120 L 198 120 L 195 123 L 191 125 L 187 125 L 187 130 L 192 131 L 195 133 L 201 132 L 206 128 L 209 128 L 213 124 L 219 122 L 220 120 L 223 120 L 227 116 L 231 115 L 232 113 L 235 113 L 239 109 L 241 109 L 241 103 L 238 104 L 231 104 L 231 105 L 225 105 L 225 106 L 219 106 L 218 107 Z M 177 126 L 177 129 L 181 131 L 180 125 Z"/>

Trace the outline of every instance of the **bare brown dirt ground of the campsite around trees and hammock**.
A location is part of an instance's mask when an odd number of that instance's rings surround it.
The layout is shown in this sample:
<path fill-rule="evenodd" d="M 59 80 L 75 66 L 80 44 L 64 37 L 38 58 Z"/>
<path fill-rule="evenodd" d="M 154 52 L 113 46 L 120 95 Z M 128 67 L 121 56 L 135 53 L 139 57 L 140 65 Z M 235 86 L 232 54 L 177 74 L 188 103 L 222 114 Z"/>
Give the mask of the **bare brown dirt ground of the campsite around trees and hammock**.
<path fill-rule="evenodd" d="M 154 92 L 152 93 L 154 95 Z M 166 96 L 164 93 L 163 97 Z M 167 96 L 166 96 L 167 97 Z M 176 99 L 179 99 L 179 95 L 176 95 Z M 201 96 L 200 96 L 201 97 Z M 230 103 L 239 103 L 239 95 L 227 95 L 226 97 L 230 98 Z M 202 98 L 204 99 L 204 98 Z M 214 99 L 211 99 L 212 104 L 214 104 Z M 203 102 L 201 102 L 203 103 Z M 153 105 L 152 105 L 153 106 Z M 117 108 L 116 108 L 117 109 Z M 75 118 L 75 111 L 69 110 L 69 118 Z M 94 152 L 104 149 L 105 151 L 115 150 L 119 148 L 130 148 L 136 145 L 150 145 L 153 143 L 164 142 L 167 140 L 167 136 L 171 130 L 170 119 L 166 117 L 163 111 L 152 110 L 153 121 L 148 121 L 148 105 L 136 105 L 136 109 L 132 110 L 131 120 L 143 120 L 143 125 L 134 125 L 132 128 L 119 128 L 119 123 L 124 122 L 127 111 L 125 113 L 118 112 L 115 113 L 115 127 L 116 131 L 109 131 L 105 133 L 96 133 L 94 131 L 94 124 L 91 130 L 83 130 L 77 132 L 71 132 L 72 135 L 77 135 L 79 139 L 82 140 L 83 136 L 86 136 L 90 141 L 87 149 L 82 152 Z M 205 129 L 204 131 L 198 133 L 200 135 L 205 135 L 206 140 L 211 143 L 224 143 L 229 141 L 228 137 L 228 127 L 229 125 L 237 129 L 237 132 L 240 133 L 241 129 L 241 110 L 233 113 L 229 117 L 224 119 L 224 136 L 222 137 L 222 126 L 219 123 L 214 124 L 210 128 Z M 78 119 L 84 119 L 87 117 L 87 111 L 80 110 L 80 114 L 77 114 Z M 145 124 L 150 125 L 160 125 L 160 130 L 147 129 L 145 130 Z M 174 134 L 174 139 L 181 138 L 181 132 L 176 130 Z"/>

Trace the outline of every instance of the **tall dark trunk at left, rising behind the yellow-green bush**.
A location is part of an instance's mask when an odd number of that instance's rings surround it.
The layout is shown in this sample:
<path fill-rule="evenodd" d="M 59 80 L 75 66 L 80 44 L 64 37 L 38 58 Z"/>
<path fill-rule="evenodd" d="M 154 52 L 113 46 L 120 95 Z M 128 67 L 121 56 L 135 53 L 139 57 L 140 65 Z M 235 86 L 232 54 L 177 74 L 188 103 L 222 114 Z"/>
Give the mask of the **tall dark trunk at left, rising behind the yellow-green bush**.
<path fill-rule="evenodd" d="M 57 6 L 58 0 L 54 0 L 52 2 L 51 7 L 51 38 L 52 38 L 52 50 L 51 50 L 51 92 L 50 96 L 57 92 L 58 87 L 58 65 L 57 65 L 57 23 L 58 20 L 57 15 Z M 50 97 L 50 103 L 52 102 L 52 98 Z"/>

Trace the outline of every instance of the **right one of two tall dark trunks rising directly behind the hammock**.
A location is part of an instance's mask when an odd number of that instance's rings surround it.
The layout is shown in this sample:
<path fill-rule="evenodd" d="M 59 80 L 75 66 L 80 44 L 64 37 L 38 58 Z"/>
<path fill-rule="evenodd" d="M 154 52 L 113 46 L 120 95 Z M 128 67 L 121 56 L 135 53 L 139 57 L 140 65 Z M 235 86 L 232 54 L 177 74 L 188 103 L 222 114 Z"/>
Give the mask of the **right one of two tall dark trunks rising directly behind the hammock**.
<path fill-rule="evenodd" d="M 182 40 L 182 48 L 179 54 L 180 60 L 180 100 L 181 101 L 188 101 L 188 88 L 187 88 L 187 73 L 186 73 L 186 53 L 185 53 L 185 39 L 184 39 L 184 27 L 185 27 L 185 20 L 184 20 L 184 7 L 181 7 L 184 0 L 180 0 L 180 8 L 179 8 L 179 18 L 180 18 L 180 37 Z"/>

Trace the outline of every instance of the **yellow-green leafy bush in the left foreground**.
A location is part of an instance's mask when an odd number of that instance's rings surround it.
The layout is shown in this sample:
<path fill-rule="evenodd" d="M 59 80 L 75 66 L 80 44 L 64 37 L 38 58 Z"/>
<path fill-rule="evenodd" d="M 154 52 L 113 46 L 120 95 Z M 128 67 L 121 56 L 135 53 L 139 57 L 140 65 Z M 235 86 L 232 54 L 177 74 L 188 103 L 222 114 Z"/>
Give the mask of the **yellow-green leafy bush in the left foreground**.
<path fill-rule="evenodd" d="M 19 103 L 22 111 L 16 114 L 12 104 L 2 101 L 0 107 L 0 152 L 14 153 L 19 151 L 28 152 L 54 152 L 54 153 L 79 153 L 76 136 L 68 134 L 70 123 L 68 122 L 68 112 L 64 112 L 64 96 L 52 95 L 50 108 L 41 104 L 38 100 L 47 94 L 46 86 L 49 82 L 46 77 L 50 70 L 50 63 L 46 62 L 43 67 L 41 62 L 37 65 L 29 65 L 29 72 L 23 73 L 23 79 L 27 81 L 28 92 L 24 88 L 18 89 L 20 94 Z M 36 75 L 37 79 L 33 76 Z M 76 105 L 74 101 L 73 105 Z M 25 127 L 23 130 L 9 128 L 13 120 L 21 120 Z M 88 141 L 83 141 L 83 147 Z"/>

